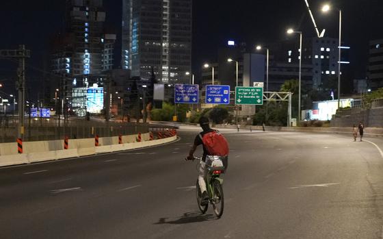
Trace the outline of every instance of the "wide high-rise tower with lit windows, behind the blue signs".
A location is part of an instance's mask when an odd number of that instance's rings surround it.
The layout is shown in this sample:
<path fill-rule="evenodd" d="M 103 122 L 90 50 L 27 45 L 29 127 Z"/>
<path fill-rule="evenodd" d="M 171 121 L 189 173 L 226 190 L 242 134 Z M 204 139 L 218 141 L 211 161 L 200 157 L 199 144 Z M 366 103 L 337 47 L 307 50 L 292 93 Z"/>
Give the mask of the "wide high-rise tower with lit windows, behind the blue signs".
<path fill-rule="evenodd" d="M 188 81 L 191 68 L 192 0 L 123 0 L 122 68 L 163 83 Z"/>

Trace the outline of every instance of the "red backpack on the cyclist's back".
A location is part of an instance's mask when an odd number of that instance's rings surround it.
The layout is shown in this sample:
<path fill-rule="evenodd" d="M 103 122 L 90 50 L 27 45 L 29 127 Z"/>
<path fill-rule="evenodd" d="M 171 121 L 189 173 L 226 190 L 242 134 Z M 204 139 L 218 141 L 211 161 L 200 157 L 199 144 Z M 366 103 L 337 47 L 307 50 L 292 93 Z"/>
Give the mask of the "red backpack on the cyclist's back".
<path fill-rule="evenodd" d="M 205 149 L 209 151 L 209 155 L 227 156 L 228 155 L 228 142 L 226 138 L 219 131 L 212 131 L 204 134 L 202 142 Z"/>

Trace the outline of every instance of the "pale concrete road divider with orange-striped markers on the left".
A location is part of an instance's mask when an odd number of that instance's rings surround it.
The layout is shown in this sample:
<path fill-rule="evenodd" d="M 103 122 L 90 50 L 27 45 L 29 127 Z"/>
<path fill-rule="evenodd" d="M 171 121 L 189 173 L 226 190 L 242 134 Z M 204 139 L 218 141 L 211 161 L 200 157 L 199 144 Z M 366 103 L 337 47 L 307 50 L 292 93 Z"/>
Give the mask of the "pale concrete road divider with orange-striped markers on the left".
<path fill-rule="evenodd" d="M 150 133 L 140 134 L 141 142 L 136 142 L 137 134 L 97 138 L 68 139 L 52 141 L 23 142 L 23 153 L 19 153 L 19 142 L 0 144 L 0 166 L 29 164 L 64 158 L 78 158 L 98 153 L 111 153 L 129 149 L 151 147 L 176 140 L 176 136 L 155 140 Z M 98 145 L 98 146 L 96 146 Z"/>

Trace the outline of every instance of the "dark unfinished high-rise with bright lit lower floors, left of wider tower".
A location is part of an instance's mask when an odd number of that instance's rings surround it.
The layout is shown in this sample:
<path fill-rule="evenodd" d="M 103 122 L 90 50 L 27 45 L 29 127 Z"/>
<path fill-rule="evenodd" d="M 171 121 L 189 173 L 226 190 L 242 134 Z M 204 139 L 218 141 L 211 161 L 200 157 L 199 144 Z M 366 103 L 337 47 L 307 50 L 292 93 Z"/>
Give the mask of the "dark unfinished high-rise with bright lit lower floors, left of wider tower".
<path fill-rule="evenodd" d="M 76 114 L 84 114 L 84 89 L 103 87 L 114 66 L 116 34 L 105 32 L 105 15 L 103 0 L 66 0 L 65 29 L 53 42 L 51 68 L 57 82 L 51 88 L 59 88 Z"/>

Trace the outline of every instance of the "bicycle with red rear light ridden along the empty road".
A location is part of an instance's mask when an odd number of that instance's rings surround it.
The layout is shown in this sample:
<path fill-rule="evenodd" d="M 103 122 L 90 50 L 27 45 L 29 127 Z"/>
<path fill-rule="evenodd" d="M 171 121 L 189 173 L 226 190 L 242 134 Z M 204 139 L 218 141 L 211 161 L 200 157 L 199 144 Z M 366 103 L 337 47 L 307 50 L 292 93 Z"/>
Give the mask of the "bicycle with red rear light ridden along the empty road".
<path fill-rule="evenodd" d="M 215 157 L 215 156 L 213 156 Z M 220 175 L 224 173 L 224 167 L 219 166 L 210 166 L 202 161 L 202 158 L 194 157 L 194 160 L 198 160 L 198 164 L 205 164 L 207 166 L 207 177 L 204 179 L 206 182 L 207 194 L 209 196 L 209 201 L 206 204 L 201 205 L 202 193 L 200 190 L 200 184 L 198 184 L 198 179 L 196 182 L 196 197 L 198 209 L 204 214 L 207 212 L 209 203 L 213 206 L 213 212 L 217 218 L 220 218 L 224 213 L 224 190 L 222 189 L 222 184 L 224 179 L 220 178 Z M 193 160 L 193 161 L 194 161 Z"/>

